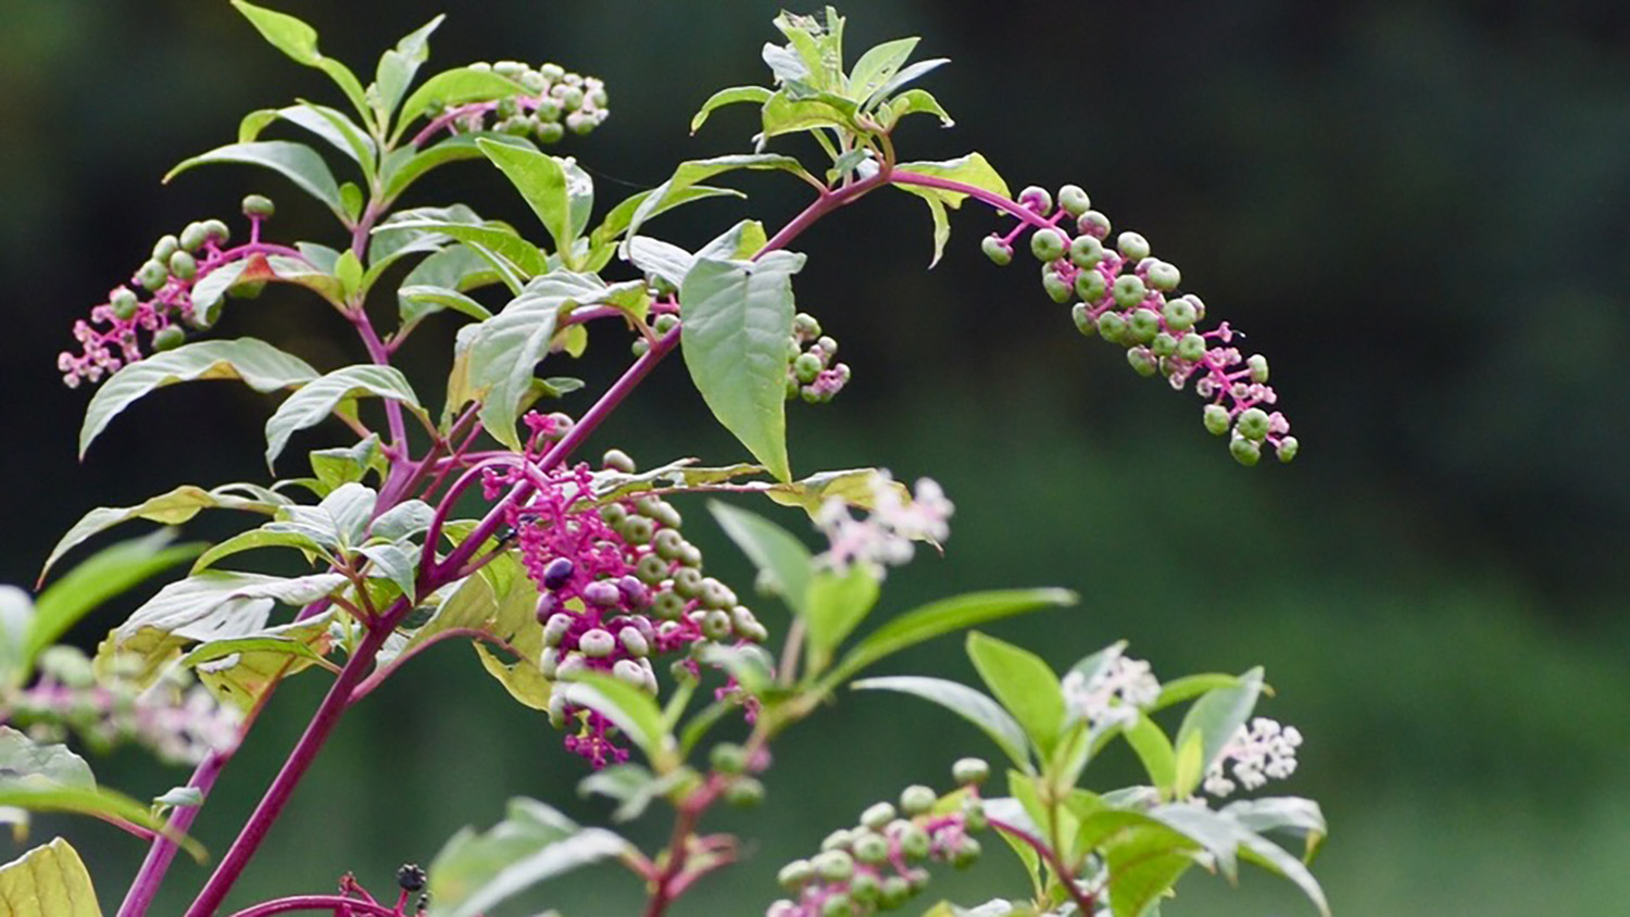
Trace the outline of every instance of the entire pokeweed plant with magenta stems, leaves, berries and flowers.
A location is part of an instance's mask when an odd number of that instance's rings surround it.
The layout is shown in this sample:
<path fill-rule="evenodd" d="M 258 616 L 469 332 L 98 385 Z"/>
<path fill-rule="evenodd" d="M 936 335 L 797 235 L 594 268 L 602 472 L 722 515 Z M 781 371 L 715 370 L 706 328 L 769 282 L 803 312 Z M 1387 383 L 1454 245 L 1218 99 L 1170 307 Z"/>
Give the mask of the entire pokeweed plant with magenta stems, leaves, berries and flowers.
<path fill-rule="evenodd" d="M 186 834 L 217 779 L 285 679 L 319 673 L 328 694 L 196 894 L 192 917 L 222 909 L 342 715 L 447 642 L 471 643 L 484 673 L 564 733 L 585 761 L 579 790 L 613 800 L 611 821 L 672 810 L 667 845 L 644 852 L 608 827 L 517 798 L 497 826 L 450 839 L 429 870 L 403 867 L 393 894 L 373 897 L 347 873 L 339 893 L 267 901 L 240 917 L 471 917 L 595 860 L 628 867 L 645 888 L 647 917 L 668 914 L 699 880 L 743 855 L 735 837 L 706 831 L 709 810 L 756 803 L 774 739 L 844 687 L 910 694 L 968 720 L 1006 759 L 1006 795 L 988 790 L 991 766 L 976 757 L 958 761 L 939 788 L 903 788 L 787 863 L 771 915 L 861 915 L 923 901 L 932 915 L 1134 917 L 1159 912 L 1190 868 L 1232 880 L 1240 860 L 1286 876 L 1328 912 L 1306 865 L 1325 834 L 1319 806 L 1293 796 L 1221 801 L 1296 767 L 1296 728 L 1255 715 L 1267 691 L 1260 669 L 1161 682 L 1115 643 L 1060 674 L 971 630 L 1071 604 L 1063 590 L 962 595 L 874 624 L 885 570 L 910 560 L 916 542 L 944 542 L 952 503 L 932 480 L 908 489 L 880 469 L 792 472 L 786 404 L 831 401 L 851 373 L 836 360 L 836 340 L 794 303 L 804 256 L 789 246 L 882 189 L 927 205 L 936 261 L 950 236 L 949 210 L 968 200 L 991 208 L 1006 223 L 985 238 L 985 254 L 1007 264 L 1015 248 L 1029 248 L 1045 293 L 1071 305 L 1082 334 L 1120 345 L 1136 371 L 1172 388 L 1193 380 L 1205 427 L 1227 438 L 1236 459 L 1296 454 L 1288 422 L 1271 410 L 1267 360 L 1242 355 L 1227 322 L 1203 329 L 1208 309 L 1178 295 L 1177 267 L 1136 233 L 1110 243 L 1108 218 L 1081 187 L 1012 195 L 978 153 L 950 161 L 896 153 L 905 117 L 950 124 L 916 86 L 945 60 L 913 64 L 918 39 L 900 39 L 846 67 L 841 16 L 782 13 L 774 24 L 786 44 L 763 52 L 773 85 L 724 90 L 693 122 L 703 127 L 722 106 L 756 106 L 755 150 L 681 163 L 663 184 L 597 212 L 588 173 L 538 148 L 605 121 L 606 91 L 593 77 L 496 62 L 414 88 L 437 18 L 386 50 L 363 86 L 318 50 L 305 23 L 233 3 L 274 47 L 333 77 L 352 111 L 300 101 L 251 112 L 236 143 L 171 174 L 215 163 L 279 173 L 333 212 L 336 248 L 272 241 L 274 205 L 261 194 L 243 200 L 243 222 L 200 220 L 158 239 L 130 282 L 75 324 L 78 352 L 60 357 L 70 386 L 99 384 L 80 453 L 135 399 L 192 380 L 289 393 L 266 422 L 269 467 L 293 433 L 329 419 L 350 437 L 311 451 L 295 477 L 183 485 L 91 510 L 51 552 L 41 581 L 65 552 L 124 521 L 173 526 L 200 510 L 264 516 L 220 544 L 170 546 L 156 533 L 93 555 L 37 601 L 0 591 L 0 710 L 21 726 L 0 728 L 0 811 L 20 824 L 28 810 L 83 811 L 147 839 L 121 915 L 148 912 L 176 852 L 192 847 Z M 326 150 L 262 138 L 284 125 Z M 787 135 L 813 140 L 807 156 L 766 150 Z M 543 226 L 541 243 L 536 231 L 456 202 L 394 207 L 460 160 L 486 160 L 513 184 Z M 331 161 L 350 178 L 336 178 Z M 774 231 L 742 220 L 699 251 L 650 233 L 668 210 L 738 195 L 707 182 L 740 169 L 786 173 L 813 197 Z M 406 270 L 393 274 L 396 265 Z M 386 279 L 398 275 L 390 290 Z M 303 287 L 331 305 L 365 362 L 323 371 L 262 340 L 204 336 L 228 298 L 253 298 L 267 283 Z M 447 399 L 432 410 L 393 357 L 422 322 L 447 321 L 437 318 L 443 313 L 466 324 Z M 632 362 L 585 406 L 582 383 L 540 376 L 538 365 L 553 370 L 556 353 L 580 353 L 590 322 L 624 331 Z M 641 471 L 619 448 L 597 463 L 577 458 L 675 350 L 753 461 L 703 467 L 676 459 Z M 751 611 L 703 572 L 680 511 L 693 513 L 688 500 L 699 494 L 768 497 L 805 511 L 823 536 L 825 547 L 812 551 L 761 515 L 706 503 L 756 565 L 758 595 L 791 612 L 784 625 L 766 624 L 782 617 Z M 308 572 L 225 567 L 241 552 L 274 547 L 297 552 Z M 54 645 L 101 601 L 187 560 L 187 575 L 137 608 L 95 656 Z M 927 676 L 856 681 L 898 650 L 952 632 L 968 632 L 983 691 Z M 1169 712 L 1175 707 L 1185 707 L 1180 718 Z M 729 718 L 748 723 L 745 741 L 709 738 Z M 137 803 L 95 783 L 65 744 L 70 735 L 91 749 L 143 743 L 196 770 L 184 787 Z M 1090 766 L 1115 741 L 1131 748 L 1148 780 L 1087 788 Z M 1025 888 L 993 889 L 971 909 L 923 897 L 931 867 L 967 865 L 991 839 L 1022 862 Z M 62 839 L 0 870 L 0 896 L 37 901 L 51 914 L 99 914 L 91 880 Z"/>

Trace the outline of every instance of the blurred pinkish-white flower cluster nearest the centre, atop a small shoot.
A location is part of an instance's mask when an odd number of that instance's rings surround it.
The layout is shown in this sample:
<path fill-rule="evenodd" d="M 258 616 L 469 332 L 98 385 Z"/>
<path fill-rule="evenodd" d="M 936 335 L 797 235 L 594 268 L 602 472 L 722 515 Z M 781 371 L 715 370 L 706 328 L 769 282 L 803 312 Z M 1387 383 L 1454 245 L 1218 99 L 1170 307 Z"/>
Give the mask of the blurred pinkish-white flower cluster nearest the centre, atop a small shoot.
<path fill-rule="evenodd" d="M 939 544 L 950 537 L 949 520 L 955 507 L 939 484 L 918 479 L 910 502 L 901 490 L 887 471 L 880 471 L 872 479 L 872 511 L 864 520 L 854 518 L 849 505 L 838 497 L 822 503 L 815 524 L 831 547 L 820 560 L 839 572 L 851 564 L 864 564 L 882 575 L 885 567 L 911 560 L 913 541 Z"/>

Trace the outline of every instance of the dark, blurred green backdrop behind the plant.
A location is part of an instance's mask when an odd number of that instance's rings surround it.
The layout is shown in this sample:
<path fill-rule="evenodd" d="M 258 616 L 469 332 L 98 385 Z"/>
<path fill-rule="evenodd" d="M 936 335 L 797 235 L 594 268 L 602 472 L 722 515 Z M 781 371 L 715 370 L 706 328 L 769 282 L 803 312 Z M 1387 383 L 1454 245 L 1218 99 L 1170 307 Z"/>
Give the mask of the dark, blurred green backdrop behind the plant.
<path fill-rule="evenodd" d="M 611 121 L 564 151 L 601 199 L 662 181 L 673 163 L 748 147 L 745 112 L 698 138 L 707 94 L 766 80 L 773 3 L 438 5 L 284 0 L 324 52 L 375 55 L 447 8 L 432 65 L 553 59 L 601 75 Z M 895 573 L 885 611 L 965 588 L 1063 585 L 1079 608 L 993 630 L 1066 666 L 1115 638 L 1175 676 L 1267 665 L 1268 715 L 1306 735 L 1276 790 L 1324 801 L 1319 862 L 1340 914 L 1612 914 L 1630 901 L 1630 671 L 1622 621 L 1630 552 L 1630 15 L 1596 2 L 851 5 L 851 49 L 921 34 L 954 65 L 927 86 L 958 119 L 903 130 L 906 158 L 981 150 L 1017 189 L 1087 187 L 1117 228 L 1144 233 L 1213 314 L 1273 360 L 1302 441 L 1288 467 L 1245 471 L 1200 425 L 1192 394 L 1130 373 L 1079 339 L 1030 267 L 976 252 L 986 213 L 955 220 L 926 272 L 929 222 L 875 195 L 799 241 L 800 305 L 844 349 L 838 402 L 792 409 L 800 471 L 880 464 L 931 474 L 957 500 L 944 560 Z M 313 205 L 248 168 L 158 178 L 233 140 L 251 107 L 334 101 L 324 78 L 262 46 L 222 2 L 0 0 L 0 581 L 33 581 L 54 539 L 93 505 L 181 482 L 262 480 L 271 404 L 235 386 L 170 389 L 129 410 L 73 461 L 83 391 L 55 353 L 70 322 L 189 220 L 272 194 L 282 238 L 328 241 Z M 797 145 L 789 148 L 800 150 Z M 419 204 L 469 199 L 530 226 L 496 173 L 453 166 Z M 779 223 L 795 182 L 750 179 L 748 213 Z M 432 191 L 434 189 L 434 191 Z M 734 202 L 665 217 L 696 243 L 740 218 Z M 453 321 L 408 349 L 440 388 Z M 355 360 L 333 314 L 293 292 L 228 311 L 220 334 L 264 334 L 323 368 Z M 601 332 L 606 334 L 606 332 Z M 610 334 L 606 334 L 610 337 Z M 626 360 L 606 342 L 592 386 Z M 587 399 L 574 401 L 580 410 Z M 339 430 L 324 430 L 339 437 Z M 323 445 L 323 435 L 297 446 Z M 336 440 L 337 441 L 337 440 Z M 734 461 L 678 365 L 597 437 L 647 463 Z M 1619 456 L 1619 458 L 1615 458 Z M 290 466 L 292 469 L 292 466 Z M 284 469 L 290 472 L 290 469 Z M 691 536 L 747 583 L 701 507 Z M 792 515 L 778 516 L 799 526 Z M 200 520 L 199 537 L 230 521 Z M 75 634 L 95 642 L 140 596 Z M 764 609 L 771 622 L 779 611 Z M 955 640 L 888 671 L 971 676 Z M 289 684 L 197 826 L 220 852 L 321 691 Z M 725 813 L 750 858 L 676 914 L 753 914 L 773 873 L 864 805 L 952 759 L 991 754 L 960 722 L 906 699 L 843 697 L 791 735 L 764 808 Z M 1108 762 L 1105 785 L 1130 777 Z M 1121 767 L 1120 770 L 1117 770 Z M 137 754 L 103 780 L 153 795 L 186 779 Z M 536 715 L 509 705 L 471 655 L 416 661 L 342 723 L 240 883 L 259 897 L 333 888 L 354 870 L 390 888 L 456 827 L 491 824 L 510 795 L 572 798 L 582 769 Z M 647 849 L 660 819 L 632 834 Z M 111 909 L 142 850 L 95 823 L 47 823 L 91 860 Z M 7 852 L 7 857 L 11 853 Z M 978 901 L 1014 881 L 1002 857 L 937 891 Z M 204 870 L 179 863 L 155 914 L 179 912 Z M 631 914 L 615 868 L 544 889 L 531 906 Z M 525 910 L 531 912 L 531 910 Z M 1196 876 L 1172 914 L 1309 914 L 1267 878 L 1242 891 Z"/>

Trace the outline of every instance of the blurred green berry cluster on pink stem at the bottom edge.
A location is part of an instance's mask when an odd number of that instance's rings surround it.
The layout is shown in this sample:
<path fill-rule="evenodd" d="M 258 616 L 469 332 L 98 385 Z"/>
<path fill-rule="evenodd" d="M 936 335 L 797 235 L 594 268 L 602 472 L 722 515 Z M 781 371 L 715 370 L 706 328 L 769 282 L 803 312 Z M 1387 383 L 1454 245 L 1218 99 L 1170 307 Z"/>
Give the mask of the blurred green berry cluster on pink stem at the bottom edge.
<path fill-rule="evenodd" d="M 927 862 L 965 868 L 980 858 L 985 805 L 978 785 L 989 766 L 965 757 L 952 767 L 963 788 L 941 800 L 929 787 L 906 787 L 898 810 L 877 803 L 861 823 L 831 832 L 822 852 L 781 868 L 781 886 L 795 897 L 769 906 L 766 917 L 866 917 L 895 910 L 929 881 Z"/>

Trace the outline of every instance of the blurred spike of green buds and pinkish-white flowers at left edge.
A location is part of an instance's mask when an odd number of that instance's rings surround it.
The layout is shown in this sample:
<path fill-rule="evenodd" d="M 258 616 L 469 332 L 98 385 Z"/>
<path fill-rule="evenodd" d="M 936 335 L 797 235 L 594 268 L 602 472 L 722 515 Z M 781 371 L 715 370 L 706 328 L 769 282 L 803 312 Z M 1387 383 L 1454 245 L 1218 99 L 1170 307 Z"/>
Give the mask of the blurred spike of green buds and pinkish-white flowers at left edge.
<path fill-rule="evenodd" d="M 122 669 L 98 684 L 83 652 L 51 647 L 39 656 L 39 681 L 7 699 L 3 717 L 28 726 L 34 741 L 62 741 L 72 730 L 95 751 L 135 743 L 166 764 L 197 764 L 238 741 L 238 712 L 218 704 L 186 669 L 171 669 L 148 687 Z"/>

